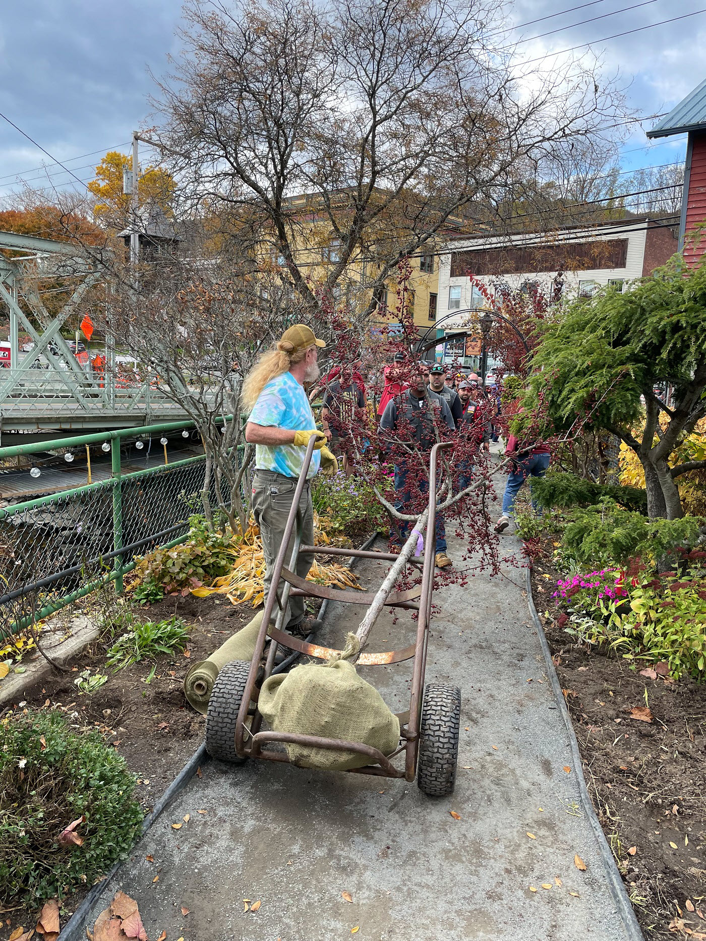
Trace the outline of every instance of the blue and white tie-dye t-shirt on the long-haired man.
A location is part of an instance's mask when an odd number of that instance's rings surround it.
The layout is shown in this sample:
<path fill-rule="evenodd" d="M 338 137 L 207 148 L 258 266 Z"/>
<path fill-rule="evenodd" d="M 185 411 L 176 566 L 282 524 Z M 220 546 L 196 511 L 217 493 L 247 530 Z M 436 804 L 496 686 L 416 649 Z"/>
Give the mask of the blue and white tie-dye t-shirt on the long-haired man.
<path fill-rule="evenodd" d="M 304 387 L 290 372 L 270 379 L 258 395 L 248 421 L 265 427 L 291 428 L 293 431 L 316 427 Z M 255 467 L 274 470 L 285 477 L 298 477 L 305 452 L 306 448 L 294 444 L 257 444 Z M 313 477 L 320 464 L 321 455 L 314 451 L 307 479 Z"/>

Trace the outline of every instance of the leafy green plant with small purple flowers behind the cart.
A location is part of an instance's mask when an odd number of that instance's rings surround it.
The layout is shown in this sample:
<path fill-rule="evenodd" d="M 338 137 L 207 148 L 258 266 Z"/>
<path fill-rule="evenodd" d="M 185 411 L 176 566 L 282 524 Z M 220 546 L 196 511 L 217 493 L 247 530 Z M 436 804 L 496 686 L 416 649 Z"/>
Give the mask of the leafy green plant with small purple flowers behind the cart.
<path fill-rule="evenodd" d="M 392 477 L 385 489 L 386 496 L 391 494 Z M 324 528 L 329 534 L 362 536 L 390 529 L 390 518 L 373 487 L 360 477 L 346 478 L 342 470 L 331 477 L 317 474 L 313 478 L 312 501 L 314 510 L 326 518 Z"/>

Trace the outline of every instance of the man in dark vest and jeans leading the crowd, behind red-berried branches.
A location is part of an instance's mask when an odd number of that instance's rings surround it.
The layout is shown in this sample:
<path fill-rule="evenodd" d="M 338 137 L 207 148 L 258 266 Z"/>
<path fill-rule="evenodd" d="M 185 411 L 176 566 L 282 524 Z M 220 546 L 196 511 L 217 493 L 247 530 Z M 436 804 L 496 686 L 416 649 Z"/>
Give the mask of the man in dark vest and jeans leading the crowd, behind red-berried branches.
<path fill-rule="evenodd" d="M 395 395 L 385 407 L 380 419 L 381 437 L 383 439 L 386 437 L 386 431 L 393 432 L 393 437 L 399 439 L 401 443 L 412 445 L 421 454 L 427 455 L 437 441 L 435 423 L 445 424 L 447 428 L 455 428 L 449 407 L 441 395 L 428 389 L 425 367 L 420 366 L 419 371 L 411 376 L 409 389 Z M 419 473 L 418 468 L 408 465 L 407 461 L 400 460 L 394 466 L 394 492 L 397 498 L 394 505 L 400 511 L 404 511 L 405 504 L 411 500 L 407 487 L 409 470 L 413 474 Z M 420 479 L 420 492 L 427 493 L 428 487 L 428 480 Z M 400 534 L 406 539 L 411 523 L 400 521 L 398 525 Z M 436 515 L 435 563 L 438 568 L 452 565 L 451 559 L 446 554 L 446 531 L 442 513 Z"/>

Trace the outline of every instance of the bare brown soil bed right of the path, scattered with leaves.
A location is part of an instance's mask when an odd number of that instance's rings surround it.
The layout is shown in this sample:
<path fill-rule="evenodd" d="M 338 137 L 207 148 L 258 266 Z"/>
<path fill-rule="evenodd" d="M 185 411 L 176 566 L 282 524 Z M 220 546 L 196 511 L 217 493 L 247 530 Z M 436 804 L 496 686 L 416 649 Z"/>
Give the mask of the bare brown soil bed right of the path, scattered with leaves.
<path fill-rule="evenodd" d="M 646 938 L 706 938 L 706 684 L 651 679 L 557 623 L 556 534 L 532 541 L 532 591 L 586 784 Z M 647 707 L 651 721 L 634 718 Z M 645 715 L 646 713 L 637 713 Z"/>

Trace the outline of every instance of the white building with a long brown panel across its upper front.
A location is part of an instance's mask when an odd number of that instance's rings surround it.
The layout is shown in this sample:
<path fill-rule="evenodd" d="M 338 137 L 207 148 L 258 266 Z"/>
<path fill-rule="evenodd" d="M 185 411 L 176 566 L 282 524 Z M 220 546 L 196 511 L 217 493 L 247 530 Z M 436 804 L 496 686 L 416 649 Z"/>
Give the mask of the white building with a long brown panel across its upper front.
<path fill-rule="evenodd" d="M 461 311 L 487 306 L 469 275 L 494 295 L 500 283 L 510 289 L 537 284 L 547 297 L 590 296 L 606 284 L 621 290 L 635 278 L 649 275 L 677 251 L 673 227 L 649 219 L 603 223 L 591 228 L 572 227 L 546 233 L 518 235 L 463 235 L 448 240 L 440 252 L 437 310 L 437 358 L 458 358 L 476 368 L 477 357 L 459 356 L 458 343 L 449 333 L 461 327 Z M 454 312 L 459 317 L 454 317 Z M 463 351 L 465 352 L 465 350 Z"/>

